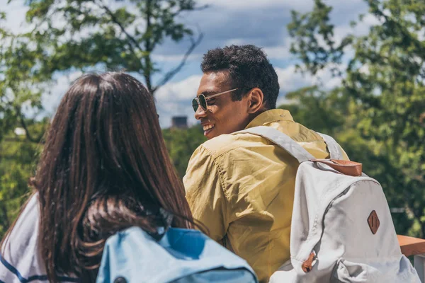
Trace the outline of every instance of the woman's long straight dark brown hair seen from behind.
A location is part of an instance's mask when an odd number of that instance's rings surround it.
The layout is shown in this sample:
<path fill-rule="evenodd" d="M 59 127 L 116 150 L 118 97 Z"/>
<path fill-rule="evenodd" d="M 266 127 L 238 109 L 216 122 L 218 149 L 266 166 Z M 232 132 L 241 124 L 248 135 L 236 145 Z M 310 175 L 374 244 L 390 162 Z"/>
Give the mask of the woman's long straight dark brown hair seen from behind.
<path fill-rule="evenodd" d="M 72 84 L 34 180 L 50 282 L 62 273 L 94 282 L 106 239 L 130 226 L 153 232 L 159 208 L 175 215 L 172 226 L 193 221 L 152 95 L 128 74 L 89 74 Z"/>

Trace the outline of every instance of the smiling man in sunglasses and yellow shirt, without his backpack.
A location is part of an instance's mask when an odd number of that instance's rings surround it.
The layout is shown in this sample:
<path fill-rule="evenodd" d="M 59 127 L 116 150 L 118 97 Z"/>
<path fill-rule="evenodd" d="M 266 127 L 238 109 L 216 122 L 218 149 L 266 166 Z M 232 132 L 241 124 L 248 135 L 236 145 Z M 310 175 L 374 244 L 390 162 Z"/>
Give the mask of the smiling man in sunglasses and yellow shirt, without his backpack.
<path fill-rule="evenodd" d="M 253 134 L 231 134 L 268 126 L 280 130 L 316 158 L 328 158 L 316 132 L 276 108 L 276 71 L 253 45 L 208 51 L 193 100 L 195 117 L 209 140 L 198 147 L 183 182 L 195 219 L 210 237 L 244 258 L 260 282 L 290 258 L 290 221 L 299 164 L 286 151 Z M 346 157 L 346 156 L 345 156 Z"/>

